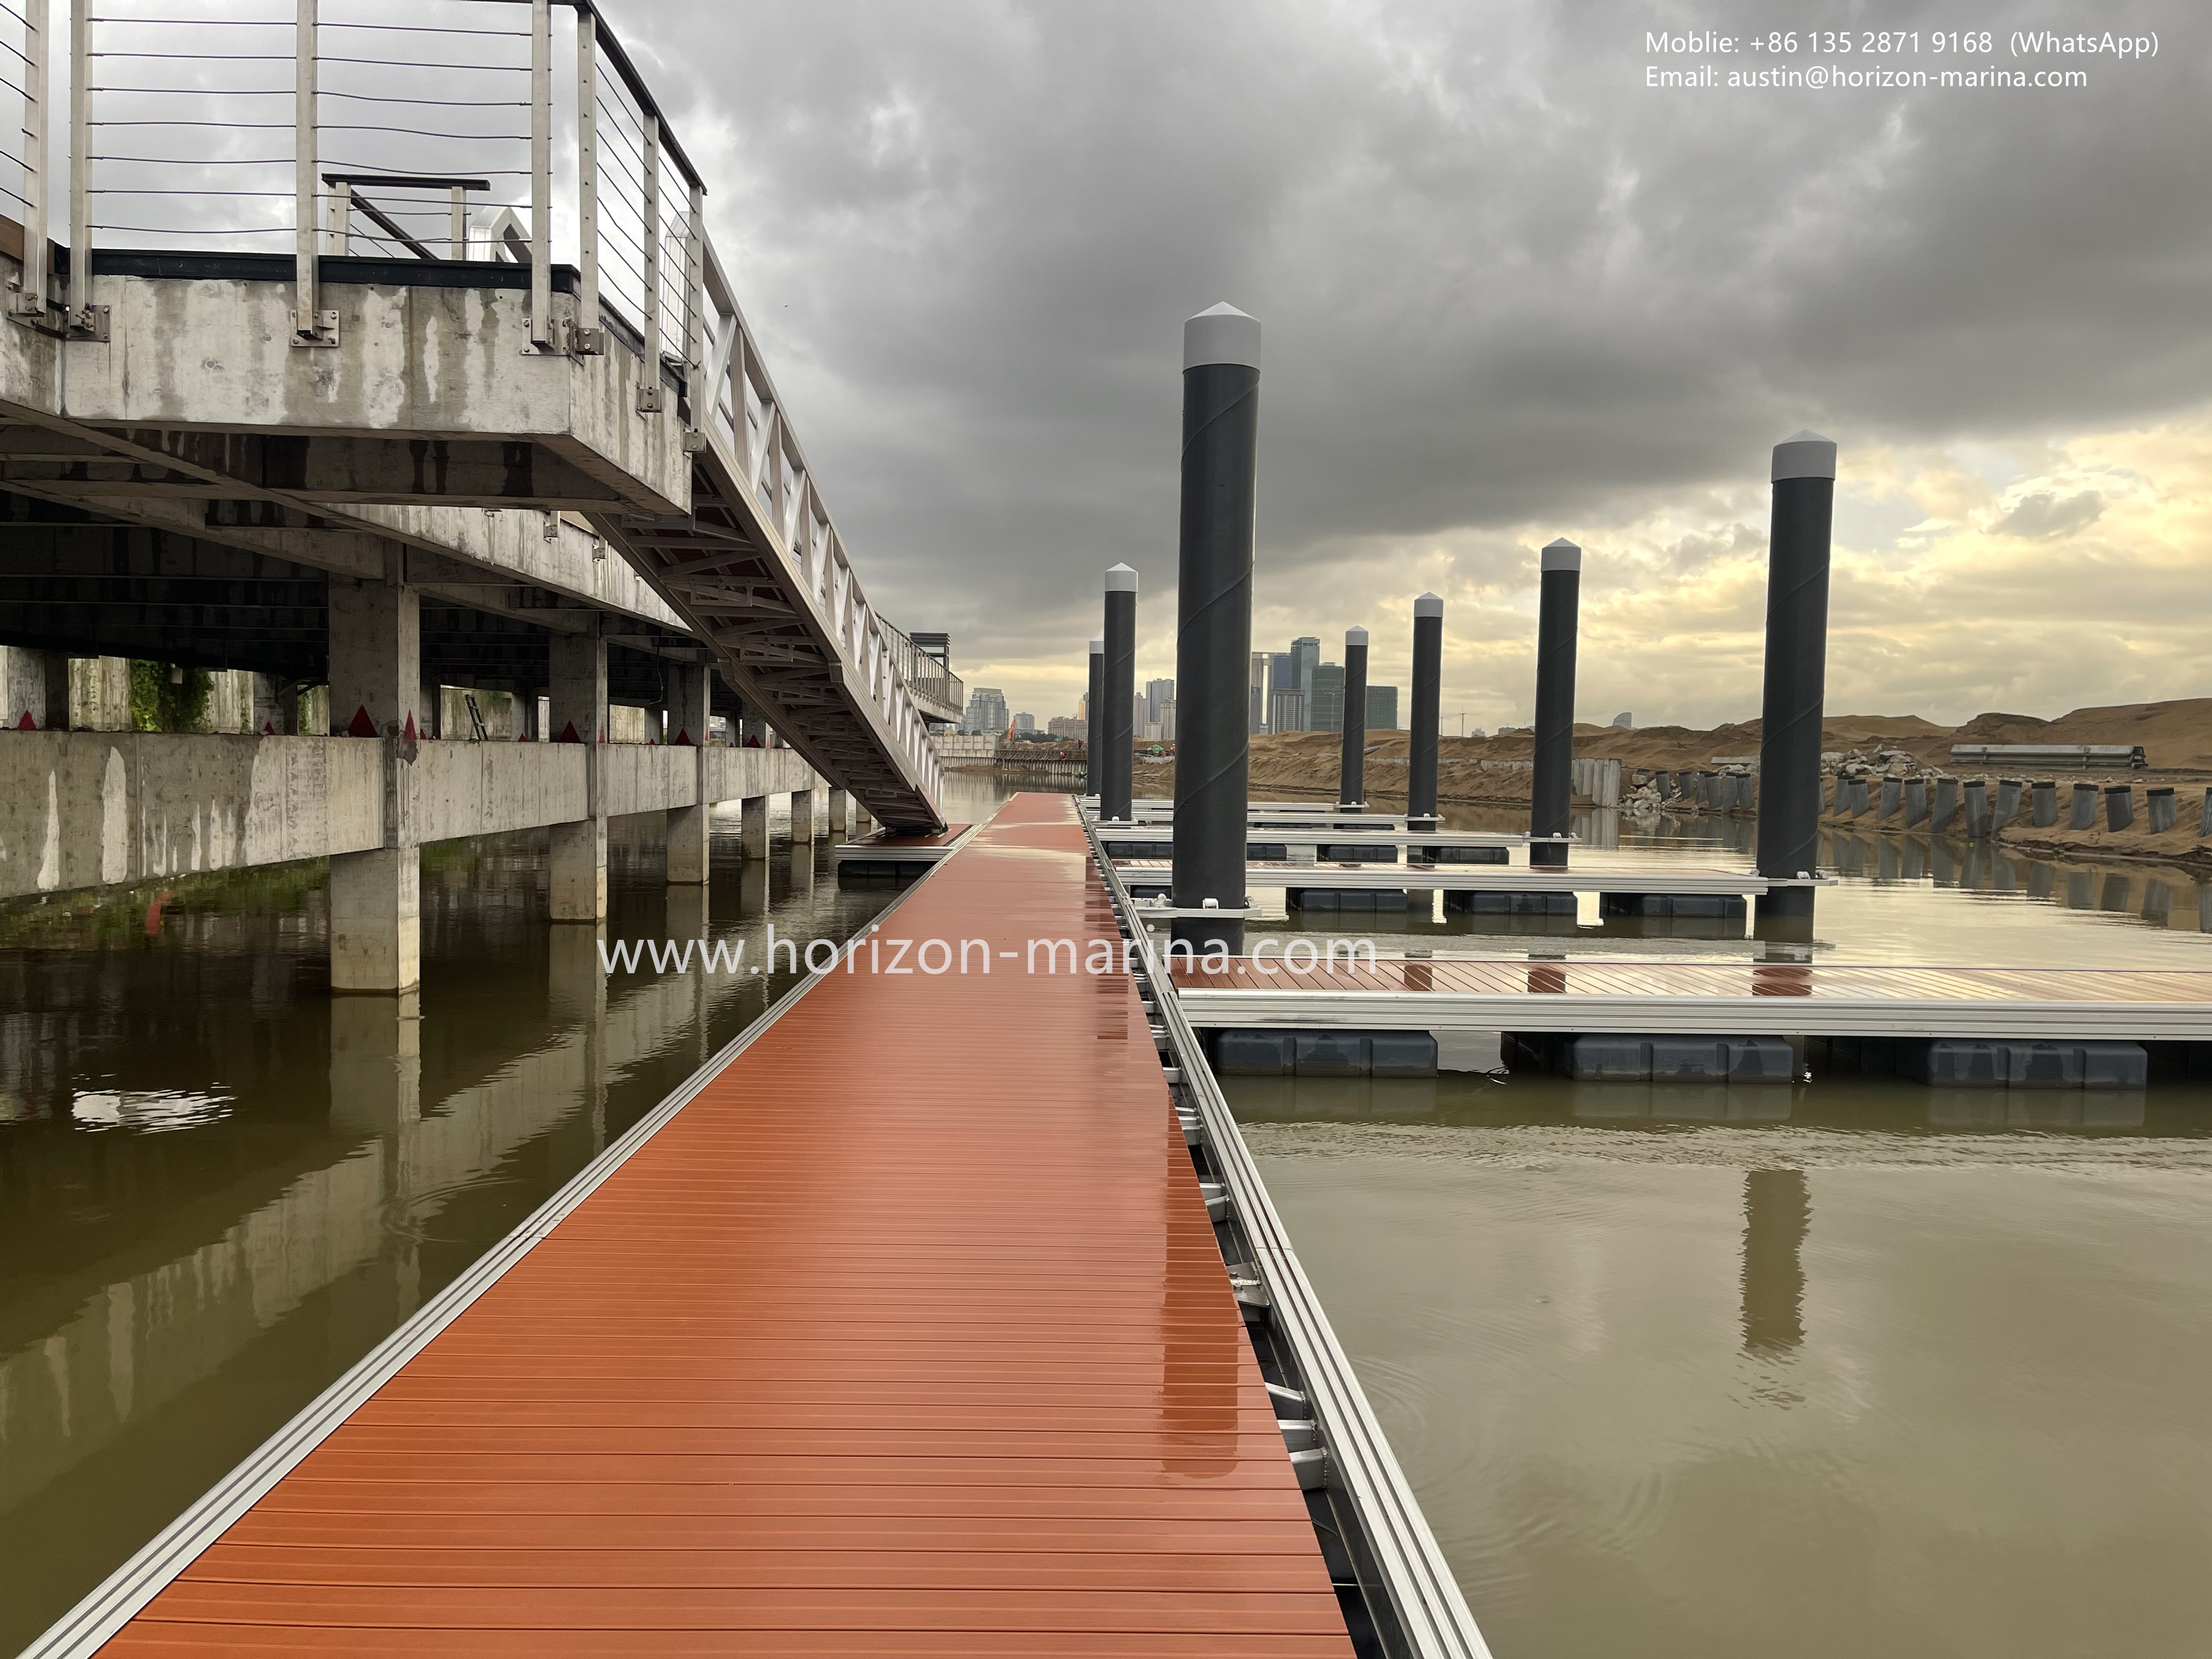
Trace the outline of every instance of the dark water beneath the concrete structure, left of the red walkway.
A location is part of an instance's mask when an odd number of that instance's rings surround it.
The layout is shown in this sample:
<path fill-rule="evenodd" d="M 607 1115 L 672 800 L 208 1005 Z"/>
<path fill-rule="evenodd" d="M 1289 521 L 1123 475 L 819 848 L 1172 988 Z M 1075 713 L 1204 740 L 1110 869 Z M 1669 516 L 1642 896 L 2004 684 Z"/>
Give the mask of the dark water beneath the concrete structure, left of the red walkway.
<path fill-rule="evenodd" d="M 283 867 L 0 918 L 0 1652 L 467 1267 L 792 982 L 617 973 L 602 938 L 845 938 L 827 852 L 708 887 L 611 834 L 553 925 L 542 836 L 425 849 L 422 989 L 332 998 Z"/>

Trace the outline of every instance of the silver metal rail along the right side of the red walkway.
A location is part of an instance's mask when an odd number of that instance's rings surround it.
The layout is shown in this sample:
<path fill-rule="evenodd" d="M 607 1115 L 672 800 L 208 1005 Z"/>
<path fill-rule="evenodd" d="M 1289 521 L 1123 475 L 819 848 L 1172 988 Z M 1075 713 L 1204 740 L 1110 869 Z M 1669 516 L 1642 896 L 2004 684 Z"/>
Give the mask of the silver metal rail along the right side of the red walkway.
<path fill-rule="evenodd" d="M 1115 909 L 1133 940 L 1144 949 L 1146 914 L 1128 896 L 1121 872 L 1099 845 L 1097 821 L 1086 816 L 1091 849 L 1113 894 Z M 1150 956 L 1150 951 L 1146 951 Z M 1420 1500 L 1398 1467 L 1396 1453 L 1367 1405 L 1352 1360 L 1336 1340 L 1329 1316 L 1321 1310 L 1298 1252 L 1290 1243 L 1259 1166 L 1243 1144 L 1237 1117 L 1230 1113 L 1221 1084 L 1214 1082 L 1206 1051 L 1175 989 L 1175 978 L 1148 971 L 1155 1006 L 1168 1042 L 1181 1057 L 1181 1082 L 1197 1104 L 1206 1139 L 1221 1181 L 1228 1188 L 1237 1221 L 1252 1245 L 1270 1296 L 1272 1316 L 1283 1340 L 1298 1358 L 1305 1396 L 1314 1409 L 1323 1447 L 1329 1453 L 1329 1484 L 1352 1500 L 1367 1537 L 1367 1553 L 1391 1601 L 1405 1650 L 1418 1659 L 1491 1659 L 1491 1648 L 1475 1626 L 1475 1615 L 1460 1595 L 1460 1584 L 1444 1562 L 1436 1533 L 1420 1511 Z"/>

